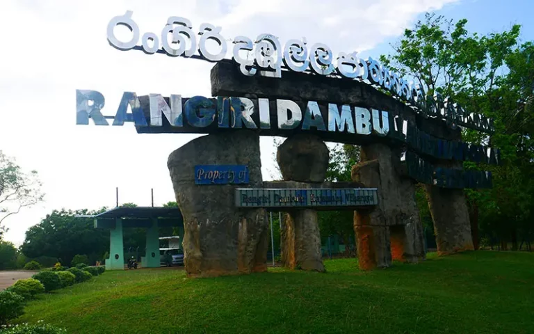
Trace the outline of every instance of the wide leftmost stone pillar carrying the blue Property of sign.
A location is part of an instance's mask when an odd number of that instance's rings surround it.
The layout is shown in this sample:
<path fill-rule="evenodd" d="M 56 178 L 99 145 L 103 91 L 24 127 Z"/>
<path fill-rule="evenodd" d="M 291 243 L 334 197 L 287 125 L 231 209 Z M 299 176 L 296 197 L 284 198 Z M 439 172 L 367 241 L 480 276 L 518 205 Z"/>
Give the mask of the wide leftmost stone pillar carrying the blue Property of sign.
<path fill-rule="evenodd" d="M 261 187 L 259 136 L 240 131 L 211 134 L 172 152 L 168 168 L 184 216 L 184 264 L 188 276 L 266 271 L 265 209 L 235 207 L 236 185 L 196 185 L 195 165 L 247 165 L 251 187 Z"/>

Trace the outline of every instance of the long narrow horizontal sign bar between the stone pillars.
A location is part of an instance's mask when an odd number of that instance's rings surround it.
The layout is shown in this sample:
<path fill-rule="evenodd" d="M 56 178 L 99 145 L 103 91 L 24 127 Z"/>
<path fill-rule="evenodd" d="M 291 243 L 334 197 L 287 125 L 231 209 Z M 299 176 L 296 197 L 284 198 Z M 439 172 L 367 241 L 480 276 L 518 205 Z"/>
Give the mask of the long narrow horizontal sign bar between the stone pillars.
<path fill-rule="evenodd" d="M 236 207 L 361 207 L 378 204 L 377 189 L 236 189 Z"/>

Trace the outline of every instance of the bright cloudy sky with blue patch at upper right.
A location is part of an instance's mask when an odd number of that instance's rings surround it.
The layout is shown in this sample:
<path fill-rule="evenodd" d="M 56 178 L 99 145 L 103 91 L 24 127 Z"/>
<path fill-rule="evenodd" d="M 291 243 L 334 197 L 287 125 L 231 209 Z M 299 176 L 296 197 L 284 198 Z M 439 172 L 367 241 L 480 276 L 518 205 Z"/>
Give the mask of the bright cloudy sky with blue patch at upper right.
<path fill-rule="evenodd" d="M 261 5 L 258 5 L 261 3 Z M 145 32 L 170 16 L 223 28 L 227 39 L 272 33 L 323 42 L 334 54 L 378 58 L 426 11 L 467 18 L 469 31 L 492 33 L 522 24 L 534 40 L 531 0 L 2 0 L 0 5 L 0 150 L 24 170 L 38 170 L 44 202 L 3 224 L 17 246 L 54 209 L 98 209 L 119 202 L 162 205 L 174 200 L 168 155 L 197 135 L 137 134 L 124 127 L 76 125 L 76 89 L 98 90 L 105 115 L 115 115 L 124 91 L 138 95 L 210 96 L 212 63 L 162 54 L 118 51 L 106 40 L 112 17 L 133 11 Z M 530 14 L 529 14 L 530 13 Z M 273 138 L 261 138 L 264 180 L 276 175 Z"/>

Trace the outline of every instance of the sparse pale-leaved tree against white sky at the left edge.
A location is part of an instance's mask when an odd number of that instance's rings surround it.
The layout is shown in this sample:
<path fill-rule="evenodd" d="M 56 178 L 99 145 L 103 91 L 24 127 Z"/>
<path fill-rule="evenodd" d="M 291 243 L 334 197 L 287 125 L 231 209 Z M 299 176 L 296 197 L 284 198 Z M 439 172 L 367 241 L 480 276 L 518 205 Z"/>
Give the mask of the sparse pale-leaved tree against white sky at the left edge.
<path fill-rule="evenodd" d="M 31 207 L 43 199 L 38 173 L 24 173 L 15 160 L 0 150 L 0 239 L 6 228 L 3 221 L 18 214 L 23 207 Z"/>

